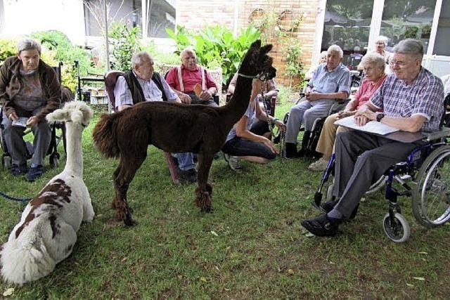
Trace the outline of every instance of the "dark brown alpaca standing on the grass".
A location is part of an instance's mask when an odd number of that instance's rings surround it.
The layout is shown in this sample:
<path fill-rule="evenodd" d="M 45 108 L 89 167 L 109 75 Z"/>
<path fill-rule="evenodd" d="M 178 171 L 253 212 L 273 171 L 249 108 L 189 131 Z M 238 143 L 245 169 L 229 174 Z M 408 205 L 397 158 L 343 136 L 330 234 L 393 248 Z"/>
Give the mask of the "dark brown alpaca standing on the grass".
<path fill-rule="evenodd" d="M 198 153 L 195 204 L 201 211 L 211 211 L 212 186 L 207 179 L 214 153 L 221 149 L 231 127 L 247 110 L 252 79 L 275 77 L 272 58 L 267 56 L 271 48 L 271 45 L 261 47 L 261 41 L 250 46 L 238 71 L 241 76 L 236 91 L 225 106 L 144 102 L 101 117 L 94 128 L 94 144 L 106 157 L 120 157 L 113 175 L 116 193 L 113 208 L 117 221 L 134 225 L 127 204 L 127 190 L 146 159 L 148 145 L 166 152 Z"/>

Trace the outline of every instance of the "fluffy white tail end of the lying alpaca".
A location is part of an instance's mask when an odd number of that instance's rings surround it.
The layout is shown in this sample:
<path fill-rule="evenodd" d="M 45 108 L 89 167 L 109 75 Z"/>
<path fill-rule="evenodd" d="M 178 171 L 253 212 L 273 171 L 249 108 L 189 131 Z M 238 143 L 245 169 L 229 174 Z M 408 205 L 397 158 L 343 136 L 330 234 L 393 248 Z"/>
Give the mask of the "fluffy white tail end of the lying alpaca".
<path fill-rule="evenodd" d="M 56 266 L 42 242 L 23 244 L 20 240 L 11 240 L 3 245 L 0 256 L 5 282 L 18 285 L 49 275 Z"/>

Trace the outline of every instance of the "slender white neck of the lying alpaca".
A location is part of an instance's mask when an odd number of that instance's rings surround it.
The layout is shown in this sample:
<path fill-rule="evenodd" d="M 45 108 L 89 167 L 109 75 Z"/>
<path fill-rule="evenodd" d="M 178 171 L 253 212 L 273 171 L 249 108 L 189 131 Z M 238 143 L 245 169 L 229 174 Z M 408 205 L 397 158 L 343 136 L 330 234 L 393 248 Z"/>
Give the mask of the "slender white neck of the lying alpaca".
<path fill-rule="evenodd" d="M 64 171 L 83 177 L 82 126 L 74 122 L 66 122 L 67 160 Z"/>

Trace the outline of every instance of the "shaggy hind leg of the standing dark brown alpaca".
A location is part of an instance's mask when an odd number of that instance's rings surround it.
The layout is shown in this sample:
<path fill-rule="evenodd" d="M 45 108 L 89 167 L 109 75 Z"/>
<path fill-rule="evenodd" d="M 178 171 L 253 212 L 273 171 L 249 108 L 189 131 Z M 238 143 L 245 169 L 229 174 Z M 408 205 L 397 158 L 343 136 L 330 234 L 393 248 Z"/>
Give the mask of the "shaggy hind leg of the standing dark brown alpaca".
<path fill-rule="evenodd" d="M 120 171 L 117 173 L 115 178 L 115 202 L 113 202 L 113 207 L 115 207 L 115 219 L 117 221 L 124 221 L 125 225 L 133 226 L 136 224 L 131 218 L 131 209 L 127 202 L 127 191 L 129 183 L 134 178 L 136 171 L 141 167 L 141 164 L 146 159 L 143 157 L 120 157 L 120 164 L 117 169 Z M 117 170 L 116 170 L 117 171 Z"/>

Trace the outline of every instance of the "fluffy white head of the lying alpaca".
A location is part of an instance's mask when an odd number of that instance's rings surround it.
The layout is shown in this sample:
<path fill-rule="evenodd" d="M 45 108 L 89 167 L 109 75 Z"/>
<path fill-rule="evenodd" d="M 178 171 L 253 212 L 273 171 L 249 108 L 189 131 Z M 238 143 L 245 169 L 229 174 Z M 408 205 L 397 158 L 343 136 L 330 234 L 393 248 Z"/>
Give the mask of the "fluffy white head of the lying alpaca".
<path fill-rule="evenodd" d="M 46 119 L 49 124 L 56 122 L 74 122 L 75 124 L 87 126 L 92 115 L 93 112 L 86 103 L 82 101 L 71 101 L 65 103 L 63 108 L 51 112 L 46 116 Z"/>

